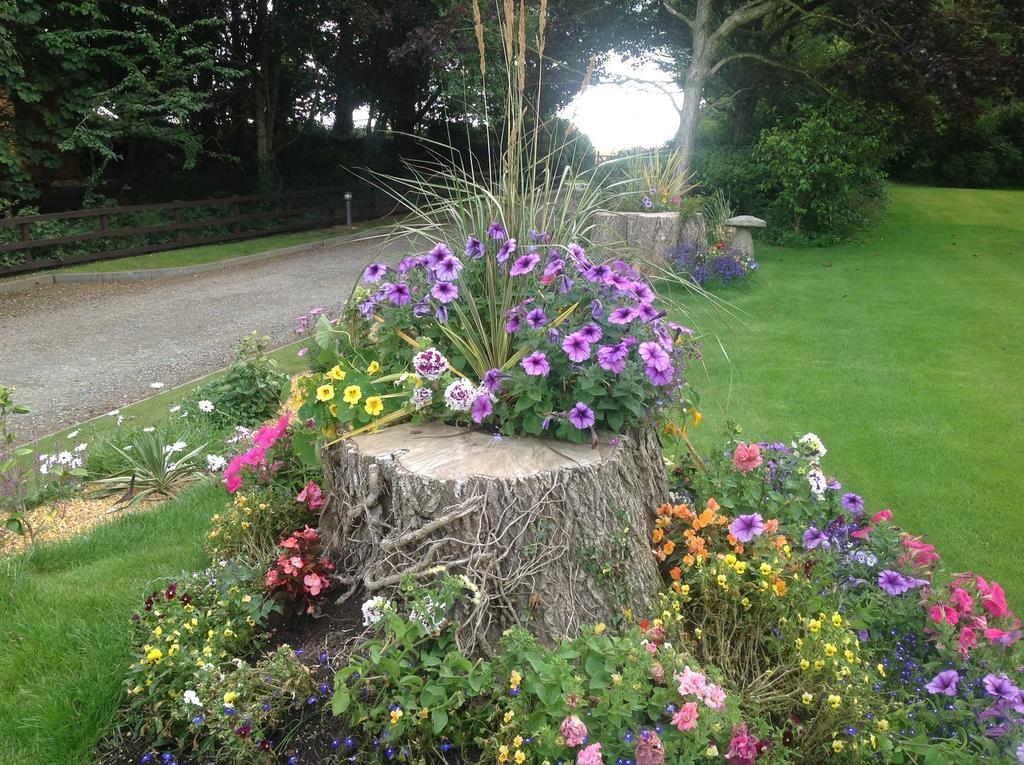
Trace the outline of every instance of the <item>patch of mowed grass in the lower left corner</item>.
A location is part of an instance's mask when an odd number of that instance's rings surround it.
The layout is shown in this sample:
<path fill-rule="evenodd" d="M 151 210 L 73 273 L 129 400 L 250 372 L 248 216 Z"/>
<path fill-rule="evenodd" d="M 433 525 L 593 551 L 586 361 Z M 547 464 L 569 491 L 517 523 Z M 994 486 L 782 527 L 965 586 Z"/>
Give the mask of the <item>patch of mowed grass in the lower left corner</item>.
<path fill-rule="evenodd" d="M 0 763 L 92 762 L 130 662 L 131 614 L 159 578 L 202 568 L 223 488 L 0 560 Z"/>

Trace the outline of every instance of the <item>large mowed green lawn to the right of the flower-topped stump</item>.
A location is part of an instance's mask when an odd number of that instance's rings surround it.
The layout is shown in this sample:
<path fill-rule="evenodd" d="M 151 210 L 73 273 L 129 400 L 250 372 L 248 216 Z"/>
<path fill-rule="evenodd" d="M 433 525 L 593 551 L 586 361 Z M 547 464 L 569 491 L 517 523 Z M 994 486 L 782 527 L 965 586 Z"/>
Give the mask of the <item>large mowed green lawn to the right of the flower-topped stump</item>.
<path fill-rule="evenodd" d="M 817 433 L 844 491 L 1024 609 L 1024 192 L 895 186 L 863 242 L 758 260 L 717 291 L 737 317 L 693 320 L 698 444 Z"/>

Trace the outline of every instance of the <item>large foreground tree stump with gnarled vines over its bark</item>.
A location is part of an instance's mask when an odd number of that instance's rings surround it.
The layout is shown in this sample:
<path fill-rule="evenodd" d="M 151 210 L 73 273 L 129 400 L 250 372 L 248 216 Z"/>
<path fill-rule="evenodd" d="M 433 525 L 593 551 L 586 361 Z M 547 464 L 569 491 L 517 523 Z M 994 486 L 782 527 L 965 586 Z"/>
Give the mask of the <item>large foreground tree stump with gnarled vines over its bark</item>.
<path fill-rule="evenodd" d="M 649 540 L 669 494 L 652 430 L 591 448 L 406 424 L 324 458 L 321 534 L 342 598 L 386 596 L 444 565 L 478 588 L 460 629 L 468 650 L 494 649 L 516 624 L 554 643 L 656 595 Z"/>

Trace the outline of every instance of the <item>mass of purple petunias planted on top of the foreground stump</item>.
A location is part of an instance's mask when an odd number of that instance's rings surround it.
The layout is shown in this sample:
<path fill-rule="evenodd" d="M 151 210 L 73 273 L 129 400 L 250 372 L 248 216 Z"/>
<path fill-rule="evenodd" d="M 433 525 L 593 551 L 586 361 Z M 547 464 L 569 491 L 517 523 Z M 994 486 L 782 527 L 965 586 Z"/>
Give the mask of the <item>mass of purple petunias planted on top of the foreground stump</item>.
<path fill-rule="evenodd" d="M 358 307 L 364 335 L 378 339 L 377 382 L 409 383 L 379 396 L 382 424 L 401 407 L 406 416 L 582 441 L 679 399 L 691 333 L 666 320 L 631 265 L 597 262 L 538 231 L 518 241 L 499 221 L 456 249 L 437 243 L 394 268 L 367 268 L 374 291 Z M 300 416 L 316 414 L 317 395 L 334 400 L 323 385 L 309 387 Z M 370 422 L 353 415 L 346 425 Z"/>

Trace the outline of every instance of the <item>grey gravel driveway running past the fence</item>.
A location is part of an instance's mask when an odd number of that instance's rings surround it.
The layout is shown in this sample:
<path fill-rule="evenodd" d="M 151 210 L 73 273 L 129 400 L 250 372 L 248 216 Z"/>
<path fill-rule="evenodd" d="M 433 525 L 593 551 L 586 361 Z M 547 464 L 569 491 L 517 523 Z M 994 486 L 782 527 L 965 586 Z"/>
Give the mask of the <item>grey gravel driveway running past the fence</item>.
<path fill-rule="evenodd" d="M 350 242 L 193 277 L 56 284 L 0 293 L 0 382 L 32 410 L 40 435 L 227 366 L 240 337 L 272 347 L 295 339 L 295 317 L 341 303 L 380 240 Z M 396 251 L 392 245 L 390 251 Z"/>

